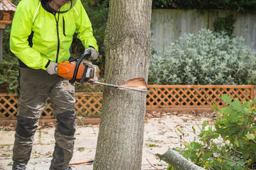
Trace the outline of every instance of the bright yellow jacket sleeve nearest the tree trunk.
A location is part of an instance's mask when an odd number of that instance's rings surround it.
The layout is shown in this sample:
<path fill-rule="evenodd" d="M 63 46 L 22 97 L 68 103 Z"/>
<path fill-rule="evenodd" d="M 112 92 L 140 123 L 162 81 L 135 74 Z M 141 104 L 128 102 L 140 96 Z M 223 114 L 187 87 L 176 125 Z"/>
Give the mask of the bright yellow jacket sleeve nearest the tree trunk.
<path fill-rule="evenodd" d="M 82 41 L 85 49 L 89 46 L 94 47 L 95 50 L 98 50 L 97 41 L 92 34 L 92 23 L 90 22 L 85 8 L 82 6 L 80 0 L 75 4 L 78 8 L 78 19 L 76 21 L 76 33 L 78 33 L 78 38 Z"/>

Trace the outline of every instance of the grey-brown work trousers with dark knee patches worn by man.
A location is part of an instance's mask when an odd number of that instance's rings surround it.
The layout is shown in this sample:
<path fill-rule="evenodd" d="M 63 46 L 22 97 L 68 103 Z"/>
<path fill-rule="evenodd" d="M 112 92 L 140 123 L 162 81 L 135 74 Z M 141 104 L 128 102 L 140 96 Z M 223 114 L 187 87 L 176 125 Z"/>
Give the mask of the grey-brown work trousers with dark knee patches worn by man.
<path fill-rule="evenodd" d="M 74 84 L 43 70 L 20 68 L 19 93 L 13 161 L 28 164 L 38 120 L 49 97 L 57 119 L 50 169 L 68 168 L 75 142 Z"/>

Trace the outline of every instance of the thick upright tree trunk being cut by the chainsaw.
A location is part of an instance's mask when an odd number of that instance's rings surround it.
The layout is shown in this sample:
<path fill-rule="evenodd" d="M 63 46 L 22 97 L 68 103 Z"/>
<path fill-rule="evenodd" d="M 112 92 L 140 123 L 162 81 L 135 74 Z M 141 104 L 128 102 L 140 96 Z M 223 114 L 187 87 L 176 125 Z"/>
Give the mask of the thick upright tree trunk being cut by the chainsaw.
<path fill-rule="evenodd" d="M 110 0 L 105 82 L 147 80 L 151 0 Z M 141 169 L 146 93 L 105 86 L 94 169 Z"/>

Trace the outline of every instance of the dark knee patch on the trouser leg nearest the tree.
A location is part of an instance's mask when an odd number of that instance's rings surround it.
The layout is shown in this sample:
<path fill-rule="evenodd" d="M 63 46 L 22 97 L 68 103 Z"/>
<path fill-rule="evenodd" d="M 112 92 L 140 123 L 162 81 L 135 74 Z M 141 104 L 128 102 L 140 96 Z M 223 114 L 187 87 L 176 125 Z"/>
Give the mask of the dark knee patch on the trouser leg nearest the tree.
<path fill-rule="evenodd" d="M 56 115 L 58 120 L 58 131 L 66 136 L 73 136 L 75 134 L 75 111 L 66 111 Z"/>

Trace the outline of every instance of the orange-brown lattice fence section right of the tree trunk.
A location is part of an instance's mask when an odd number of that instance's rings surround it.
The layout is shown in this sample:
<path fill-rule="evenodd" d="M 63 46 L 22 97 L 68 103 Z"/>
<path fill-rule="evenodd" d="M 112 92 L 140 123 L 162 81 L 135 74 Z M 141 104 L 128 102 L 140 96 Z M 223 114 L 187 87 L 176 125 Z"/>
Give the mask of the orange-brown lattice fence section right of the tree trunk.
<path fill-rule="evenodd" d="M 255 98 L 255 88 L 246 86 L 226 85 L 149 85 L 146 97 L 146 108 L 159 111 L 211 109 L 213 103 L 223 107 L 220 99 L 222 94 L 228 94 L 240 101 Z"/>

